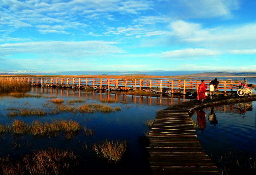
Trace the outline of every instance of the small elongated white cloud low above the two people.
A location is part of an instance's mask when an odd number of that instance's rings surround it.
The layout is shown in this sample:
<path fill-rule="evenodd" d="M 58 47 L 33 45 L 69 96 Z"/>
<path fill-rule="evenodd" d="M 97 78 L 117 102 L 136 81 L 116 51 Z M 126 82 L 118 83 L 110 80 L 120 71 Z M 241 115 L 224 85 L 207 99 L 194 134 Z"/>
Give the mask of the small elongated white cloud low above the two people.
<path fill-rule="evenodd" d="M 163 52 L 162 56 L 164 58 L 187 58 L 187 57 L 198 57 L 198 56 L 214 56 L 220 55 L 220 51 L 210 50 L 204 48 L 188 48 L 183 50 L 172 50 Z"/>

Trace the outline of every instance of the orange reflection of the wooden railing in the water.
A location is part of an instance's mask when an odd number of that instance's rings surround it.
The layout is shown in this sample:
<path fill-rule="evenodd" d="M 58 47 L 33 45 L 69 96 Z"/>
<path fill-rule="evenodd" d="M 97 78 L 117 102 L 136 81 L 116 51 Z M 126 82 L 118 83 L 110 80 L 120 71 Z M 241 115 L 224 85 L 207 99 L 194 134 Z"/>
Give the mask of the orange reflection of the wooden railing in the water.
<path fill-rule="evenodd" d="M 85 91 L 81 89 L 71 88 L 59 88 L 59 87 L 32 87 L 31 92 L 33 94 L 45 94 L 58 97 L 67 98 L 82 98 L 91 100 L 102 99 L 114 99 L 121 103 L 134 103 L 134 104 L 146 104 L 146 105 L 163 105 L 170 106 L 187 100 L 185 95 L 170 95 L 170 94 L 157 94 L 152 96 L 143 95 L 127 95 L 125 92 L 113 92 L 113 91 Z"/>

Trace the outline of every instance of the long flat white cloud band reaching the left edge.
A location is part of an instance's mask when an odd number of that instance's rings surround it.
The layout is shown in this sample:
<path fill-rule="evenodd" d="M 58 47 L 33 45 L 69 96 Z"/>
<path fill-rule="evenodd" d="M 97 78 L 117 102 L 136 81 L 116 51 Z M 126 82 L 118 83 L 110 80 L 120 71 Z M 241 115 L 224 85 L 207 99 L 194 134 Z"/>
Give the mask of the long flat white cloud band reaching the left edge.
<path fill-rule="evenodd" d="M 81 42 L 63 42 L 63 41 L 45 41 L 45 42 L 25 42 L 0 45 L 1 55 L 23 54 L 57 54 L 68 57 L 90 56 L 90 55 L 108 55 L 114 53 L 123 53 L 124 51 L 116 46 L 115 42 L 105 41 L 81 41 Z"/>

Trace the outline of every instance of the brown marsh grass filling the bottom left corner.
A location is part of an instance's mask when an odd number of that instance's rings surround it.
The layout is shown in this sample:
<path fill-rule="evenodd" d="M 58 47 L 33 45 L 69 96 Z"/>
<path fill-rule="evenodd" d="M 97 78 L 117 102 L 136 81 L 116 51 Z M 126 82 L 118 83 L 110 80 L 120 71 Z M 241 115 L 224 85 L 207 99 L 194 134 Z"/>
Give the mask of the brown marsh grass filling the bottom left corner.
<path fill-rule="evenodd" d="M 1 174 L 12 175 L 70 174 L 77 162 L 77 156 L 73 151 L 48 148 L 23 155 L 21 161 L 14 162 L 9 156 L 1 158 L 0 171 Z"/>

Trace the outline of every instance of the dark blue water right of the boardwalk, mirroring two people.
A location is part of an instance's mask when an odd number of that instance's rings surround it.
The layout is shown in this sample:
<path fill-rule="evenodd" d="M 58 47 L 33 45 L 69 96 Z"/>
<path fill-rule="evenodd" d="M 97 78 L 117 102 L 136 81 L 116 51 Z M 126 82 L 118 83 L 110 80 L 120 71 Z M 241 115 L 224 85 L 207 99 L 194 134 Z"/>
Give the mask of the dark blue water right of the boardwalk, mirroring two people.
<path fill-rule="evenodd" d="M 246 151 L 256 157 L 256 102 L 215 106 L 192 116 L 201 129 L 197 137 L 213 159 L 229 150 Z"/>

